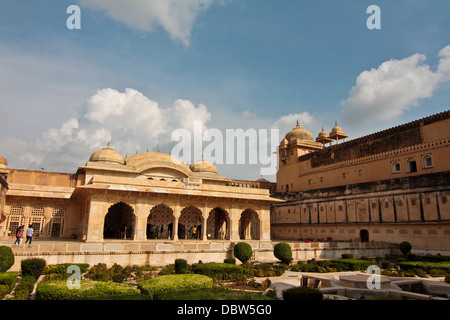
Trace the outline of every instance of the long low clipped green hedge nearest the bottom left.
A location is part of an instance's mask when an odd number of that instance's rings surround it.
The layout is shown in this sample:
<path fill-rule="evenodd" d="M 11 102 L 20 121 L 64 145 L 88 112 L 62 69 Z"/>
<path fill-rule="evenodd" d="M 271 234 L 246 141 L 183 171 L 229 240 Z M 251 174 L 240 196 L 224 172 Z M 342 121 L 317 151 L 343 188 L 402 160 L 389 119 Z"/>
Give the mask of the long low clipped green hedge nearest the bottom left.
<path fill-rule="evenodd" d="M 42 281 L 36 289 L 38 300 L 105 300 L 125 299 L 141 295 L 138 288 L 115 282 L 81 280 L 80 289 L 69 289 L 67 281 Z"/>

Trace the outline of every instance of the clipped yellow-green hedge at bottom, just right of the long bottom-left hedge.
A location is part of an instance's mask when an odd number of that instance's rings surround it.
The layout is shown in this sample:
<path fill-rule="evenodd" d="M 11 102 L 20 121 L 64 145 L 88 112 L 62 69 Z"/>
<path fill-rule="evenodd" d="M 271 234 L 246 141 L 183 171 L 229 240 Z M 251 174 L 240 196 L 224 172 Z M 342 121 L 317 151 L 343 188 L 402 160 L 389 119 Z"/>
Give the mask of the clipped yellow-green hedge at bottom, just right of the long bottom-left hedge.
<path fill-rule="evenodd" d="M 175 274 L 156 277 L 138 283 L 138 288 L 151 299 L 159 300 L 167 292 L 212 288 L 213 280 L 200 274 Z"/>

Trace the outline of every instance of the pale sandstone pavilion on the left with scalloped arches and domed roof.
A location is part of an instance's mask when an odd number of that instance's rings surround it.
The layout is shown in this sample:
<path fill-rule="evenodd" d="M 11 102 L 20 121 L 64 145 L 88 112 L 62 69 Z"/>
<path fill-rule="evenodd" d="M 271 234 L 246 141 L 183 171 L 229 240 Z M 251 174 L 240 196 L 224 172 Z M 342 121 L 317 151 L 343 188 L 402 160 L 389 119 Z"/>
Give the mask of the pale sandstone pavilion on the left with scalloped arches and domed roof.
<path fill-rule="evenodd" d="M 270 241 L 270 206 L 281 201 L 204 159 L 124 158 L 109 144 L 74 174 L 13 169 L 0 157 L 0 176 L 0 239 L 32 225 L 37 239 Z"/>

